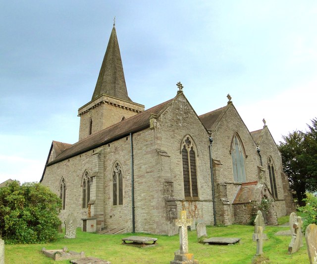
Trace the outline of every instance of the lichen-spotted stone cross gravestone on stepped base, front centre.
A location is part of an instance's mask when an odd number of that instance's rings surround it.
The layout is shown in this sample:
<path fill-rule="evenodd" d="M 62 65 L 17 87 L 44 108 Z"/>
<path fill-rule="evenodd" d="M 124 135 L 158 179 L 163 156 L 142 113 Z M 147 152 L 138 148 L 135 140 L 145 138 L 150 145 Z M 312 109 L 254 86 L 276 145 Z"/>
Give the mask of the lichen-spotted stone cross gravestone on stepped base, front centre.
<path fill-rule="evenodd" d="M 198 264 L 194 260 L 194 254 L 188 253 L 187 226 L 191 226 L 192 219 L 187 219 L 186 211 L 181 211 L 180 219 L 176 219 L 175 225 L 179 230 L 179 250 L 175 252 L 174 260 L 170 264 Z"/>

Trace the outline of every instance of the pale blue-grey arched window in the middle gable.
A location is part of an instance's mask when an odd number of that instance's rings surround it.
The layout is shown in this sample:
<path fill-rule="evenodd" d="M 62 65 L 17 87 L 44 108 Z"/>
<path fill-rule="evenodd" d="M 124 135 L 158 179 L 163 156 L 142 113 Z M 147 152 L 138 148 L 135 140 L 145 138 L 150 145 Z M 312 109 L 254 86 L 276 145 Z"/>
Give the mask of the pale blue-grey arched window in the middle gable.
<path fill-rule="evenodd" d="M 233 169 L 233 180 L 235 182 L 246 182 L 245 154 L 242 142 L 235 134 L 231 143 L 231 158 Z"/>

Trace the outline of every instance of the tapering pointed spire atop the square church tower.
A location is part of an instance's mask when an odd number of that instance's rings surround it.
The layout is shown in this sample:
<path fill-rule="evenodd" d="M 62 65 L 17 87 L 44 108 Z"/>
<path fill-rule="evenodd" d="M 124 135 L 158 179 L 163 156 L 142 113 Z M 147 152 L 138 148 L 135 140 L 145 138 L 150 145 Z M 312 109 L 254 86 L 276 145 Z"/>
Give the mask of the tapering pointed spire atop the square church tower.
<path fill-rule="evenodd" d="M 114 21 L 92 100 L 102 94 L 107 94 L 119 99 L 131 101 L 128 97 L 127 87 L 125 84 Z"/>

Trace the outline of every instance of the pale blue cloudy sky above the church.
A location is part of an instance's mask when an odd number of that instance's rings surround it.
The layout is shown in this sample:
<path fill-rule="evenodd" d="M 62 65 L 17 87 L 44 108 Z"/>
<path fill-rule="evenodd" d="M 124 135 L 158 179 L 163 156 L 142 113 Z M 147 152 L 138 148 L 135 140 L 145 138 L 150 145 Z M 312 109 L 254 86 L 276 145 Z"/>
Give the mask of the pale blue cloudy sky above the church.
<path fill-rule="evenodd" d="M 113 26 L 132 101 L 198 115 L 227 94 L 275 142 L 317 117 L 315 0 L 0 1 L 0 183 L 40 181 L 52 141 L 78 141 Z"/>

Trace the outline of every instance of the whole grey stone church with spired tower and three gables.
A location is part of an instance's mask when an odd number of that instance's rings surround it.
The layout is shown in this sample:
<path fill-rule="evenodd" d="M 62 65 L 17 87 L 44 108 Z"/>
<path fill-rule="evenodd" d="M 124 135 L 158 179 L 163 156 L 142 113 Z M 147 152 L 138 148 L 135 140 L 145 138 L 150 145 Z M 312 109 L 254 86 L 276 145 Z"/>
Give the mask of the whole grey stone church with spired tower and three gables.
<path fill-rule="evenodd" d="M 293 208 L 281 155 L 265 124 L 250 132 L 228 95 L 198 116 L 177 84 L 174 98 L 145 110 L 127 92 L 113 26 L 92 99 L 78 109 L 79 141 L 53 141 L 41 183 L 83 231 L 119 228 L 172 235 L 194 223 L 269 224 Z M 176 89 L 175 89 L 176 91 Z"/>

